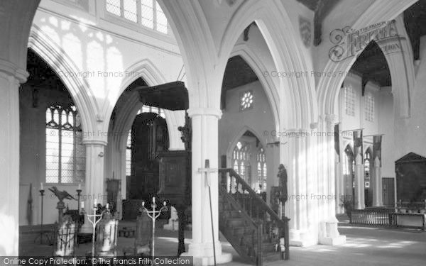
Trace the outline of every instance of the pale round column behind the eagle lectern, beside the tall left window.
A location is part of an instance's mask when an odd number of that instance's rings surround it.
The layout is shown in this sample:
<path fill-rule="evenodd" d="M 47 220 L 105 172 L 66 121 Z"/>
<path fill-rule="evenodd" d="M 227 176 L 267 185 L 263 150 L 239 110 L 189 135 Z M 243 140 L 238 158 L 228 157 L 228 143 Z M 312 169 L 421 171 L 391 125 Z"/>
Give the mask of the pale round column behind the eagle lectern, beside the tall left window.
<path fill-rule="evenodd" d="M 104 150 L 107 142 L 104 140 L 84 140 L 86 145 L 86 180 L 83 195 L 84 211 L 93 214 L 94 199 L 97 203 L 107 203 L 107 192 L 104 190 Z M 84 216 L 83 233 L 92 233 L 92 223 Z"/>

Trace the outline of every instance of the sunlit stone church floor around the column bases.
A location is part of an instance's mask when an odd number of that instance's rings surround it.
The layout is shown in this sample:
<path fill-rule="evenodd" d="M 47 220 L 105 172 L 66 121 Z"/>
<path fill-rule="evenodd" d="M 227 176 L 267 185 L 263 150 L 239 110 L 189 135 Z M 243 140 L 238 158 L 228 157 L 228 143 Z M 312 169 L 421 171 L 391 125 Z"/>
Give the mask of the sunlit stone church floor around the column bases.
<path fill-rule="evenodd" d="M 425 231 L 351 227 L 344 222 L 340 223 L 339 231 L 346 235 L 346 245 L 290 247 L 290 260 L 270 262 L 266 265 L 426 265 Z M 175 255 L 178 250 L 178 233 L 161 229 L 156 232 L 158 237 L 155 239 L 155 254 Z M 53 247 L 33 243 L 34 237 L 34 235 L 21 235 L 20 254 L 51 255 Z M 190 232 L 185 232 L 185 237 L 185 243 L 190 243 Z M 119 238 L 119 250 L 130 248 L 133 241 L 133 238 Z M 77 255 L 84 254 L 90 248 L 90 244 L 80 245 Z M 233 262 L 227 263 L 226 266 L 244 264 L 224 238 L 222 238 L 222 249 L 234 255 Z"/>

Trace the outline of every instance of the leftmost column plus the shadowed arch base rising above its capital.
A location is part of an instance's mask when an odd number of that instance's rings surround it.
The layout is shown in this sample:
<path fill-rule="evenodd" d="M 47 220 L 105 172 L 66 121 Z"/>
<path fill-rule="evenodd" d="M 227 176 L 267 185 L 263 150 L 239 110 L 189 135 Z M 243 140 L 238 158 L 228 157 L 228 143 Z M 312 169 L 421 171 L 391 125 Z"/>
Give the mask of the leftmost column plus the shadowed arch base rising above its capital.
<path fill-rule="evenodd" d="M 0 256 L 18 255 L 18 89 L 19 84 L 26 82 L 28 77 L 28 35 L 39 2 L 0 1 L 0 25 L 3 25 L 0 27 L 0 150 L 3 153 L 0 156 Z"/>

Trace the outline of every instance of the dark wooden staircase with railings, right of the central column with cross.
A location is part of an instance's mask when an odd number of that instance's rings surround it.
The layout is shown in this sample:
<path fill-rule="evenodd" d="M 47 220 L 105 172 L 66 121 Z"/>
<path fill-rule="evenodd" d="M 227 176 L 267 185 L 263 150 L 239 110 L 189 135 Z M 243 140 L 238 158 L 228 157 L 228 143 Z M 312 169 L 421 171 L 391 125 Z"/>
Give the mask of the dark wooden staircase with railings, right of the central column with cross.
<path fill-rule="evenodd" d="M 256 265 L 288 260 L 288 221 L 233 169 L 219 169 L 219 230 L 243 260 Z"/>

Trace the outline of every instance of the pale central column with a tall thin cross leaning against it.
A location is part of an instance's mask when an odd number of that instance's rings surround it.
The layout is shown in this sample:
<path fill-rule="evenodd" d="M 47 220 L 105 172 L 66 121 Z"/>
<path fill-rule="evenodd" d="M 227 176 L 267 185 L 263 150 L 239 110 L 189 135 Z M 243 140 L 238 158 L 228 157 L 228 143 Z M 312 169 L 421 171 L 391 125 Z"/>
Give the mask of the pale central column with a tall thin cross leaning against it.
<path fill-rule="evenodd" d="M 230 253 L 222 253 L 219 242 L 218 174 L 210 173 L 214 239 L 210 218 L 209 187 L 204 173 L 204 161 L 209 160 L 210 168 L 218 168 L 218 121 L 222 116 L 219 109 L 189 109 L 192 118 L 192 243 L 187 253 L 194 257 L 194 265 L 214 265 L 213 243 L 217 263 L 232 260 Z"/>

